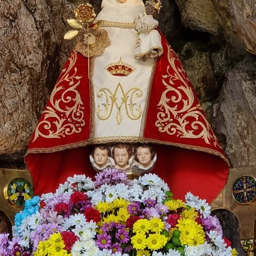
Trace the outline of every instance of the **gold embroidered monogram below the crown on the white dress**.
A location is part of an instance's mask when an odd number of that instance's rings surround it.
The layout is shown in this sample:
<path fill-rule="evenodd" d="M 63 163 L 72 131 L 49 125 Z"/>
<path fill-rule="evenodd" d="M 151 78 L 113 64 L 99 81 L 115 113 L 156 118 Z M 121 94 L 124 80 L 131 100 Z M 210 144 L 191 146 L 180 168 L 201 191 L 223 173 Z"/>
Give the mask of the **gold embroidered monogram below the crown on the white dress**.
<path fill-rule="evenodd" d="M 116 97 L 119 90 L 122 95 L 121 99 L 118 99 Z M 102 98 L 103 96 L 105 96 L 105 103 L 101 103 L 103 109 L 101 109 L 98 105 L 96 110 L 97 117 L 100 120 L 107 120 L 110 118 L 114 109 L 114 105 L 117 109 L 116 123 L 118 125 L 122 122 L 123 117 L 121 110 L 123 105 L 128 118 L 130 118 L 131 120 L 138 120 L 140 118 L 142 113 L 141 105 L 138 105 L 138 107 L 136 107 L 137 104 L 134 103 L 134 97 L 142 97 L 142 91 L 138 87 L 133 87 L 125 93 L 121 84 L 118 83 L 114 93 L 109 88 L 100 88 L 97 91 L 97 97 Z M 101 114 L 102 111 L 104 111 L 103 114 Z M 134 113 L 134 111 L 136 111 L 138 114 Z"/>

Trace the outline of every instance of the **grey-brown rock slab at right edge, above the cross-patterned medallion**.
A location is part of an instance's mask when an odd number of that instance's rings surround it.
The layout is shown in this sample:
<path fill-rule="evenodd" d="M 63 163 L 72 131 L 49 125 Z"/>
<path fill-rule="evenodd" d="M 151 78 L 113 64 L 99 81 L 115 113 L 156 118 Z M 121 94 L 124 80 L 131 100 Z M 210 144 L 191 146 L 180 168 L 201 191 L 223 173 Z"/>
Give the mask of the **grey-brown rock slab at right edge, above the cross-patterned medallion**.
<path fill-rule="evenodd" d="M 227 73 L 209 116 L 217 134 L 225 137 L 225 152 L 234 168 L 256 165 L 256 69 L 251 55 Z"/>

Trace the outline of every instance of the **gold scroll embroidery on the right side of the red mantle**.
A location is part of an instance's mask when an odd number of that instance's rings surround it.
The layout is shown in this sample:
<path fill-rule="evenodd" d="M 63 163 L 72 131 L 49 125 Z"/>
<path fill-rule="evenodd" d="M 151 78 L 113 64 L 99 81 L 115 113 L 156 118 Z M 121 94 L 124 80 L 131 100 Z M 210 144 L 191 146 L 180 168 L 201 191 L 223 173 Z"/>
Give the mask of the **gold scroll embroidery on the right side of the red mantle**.
<path fill-rule="evenodd" d="M 202 112 L 200 104 L 195 106 L 195 97 L 191 87 L 188 86 L 189 78 L 182 68 L 175 52 L 168 48 L 167 74 L 162 76 L 165 91 L 157 104 L 160 110 L 157 113 L 155 125 L 161 133 L 176 135 L 181 138 L 202 138 L 207 144 L 213 141 L 215 147 L 220 147 L 218 140 L 211 130 L 210 124 Z M 171 70 L 174 72 L 171 73 Z M 173 84 L 180 84 L 173 87 Z"/>

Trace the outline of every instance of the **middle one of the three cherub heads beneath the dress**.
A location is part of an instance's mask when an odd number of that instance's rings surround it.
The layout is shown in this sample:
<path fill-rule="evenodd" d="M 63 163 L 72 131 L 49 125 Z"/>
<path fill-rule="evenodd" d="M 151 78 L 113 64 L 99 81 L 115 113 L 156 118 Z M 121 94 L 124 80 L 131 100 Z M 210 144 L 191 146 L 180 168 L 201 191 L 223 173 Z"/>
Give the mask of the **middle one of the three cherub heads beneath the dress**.
<path fill-rule="evenodd" d="M 133 148 L 126 143 L 119 143 L 114 145 L 112 149 L 112 157 L 116 162 L 116 166 L 123 169 L 129 164 L 129 159 L 133 155 Z"/>

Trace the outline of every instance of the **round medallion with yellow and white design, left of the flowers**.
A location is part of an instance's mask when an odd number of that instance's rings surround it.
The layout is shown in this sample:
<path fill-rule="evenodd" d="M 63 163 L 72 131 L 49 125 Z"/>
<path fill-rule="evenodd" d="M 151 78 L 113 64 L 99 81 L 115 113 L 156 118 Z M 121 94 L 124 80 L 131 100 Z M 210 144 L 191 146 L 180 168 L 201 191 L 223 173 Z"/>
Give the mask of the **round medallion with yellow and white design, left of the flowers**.
<path fill-rule="evenodd" d="M 9 183 L 5 197 L 15 206 L 24 206 L 25 201 L 33 197 L 32 185 L 26 179 L 14 179 Z"/>

